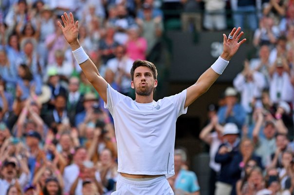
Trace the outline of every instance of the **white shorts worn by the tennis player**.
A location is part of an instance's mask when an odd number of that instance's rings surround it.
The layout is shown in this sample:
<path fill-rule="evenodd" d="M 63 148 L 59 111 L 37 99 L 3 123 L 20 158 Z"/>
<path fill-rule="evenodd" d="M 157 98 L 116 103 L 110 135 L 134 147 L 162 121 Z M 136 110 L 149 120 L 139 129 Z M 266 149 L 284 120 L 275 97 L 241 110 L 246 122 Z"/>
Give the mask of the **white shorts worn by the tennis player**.
<path fill-rule="evenodd" d="M 148 181 L 131 181 L 118 176 L 116 191 L 111 195 L 174 195 L 165 176 Z"/>

